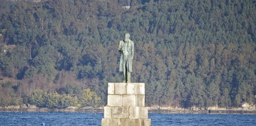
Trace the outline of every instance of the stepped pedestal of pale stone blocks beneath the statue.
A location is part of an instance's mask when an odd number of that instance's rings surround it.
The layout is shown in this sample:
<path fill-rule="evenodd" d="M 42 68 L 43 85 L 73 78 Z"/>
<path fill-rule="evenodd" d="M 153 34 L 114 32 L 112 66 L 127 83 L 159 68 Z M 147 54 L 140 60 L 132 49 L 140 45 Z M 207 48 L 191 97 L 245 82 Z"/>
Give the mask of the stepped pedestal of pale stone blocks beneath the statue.
<path fill-rule="evenodd" d="M 108 83 L 101 126 L 150 126 L 144 83 Z"/>

